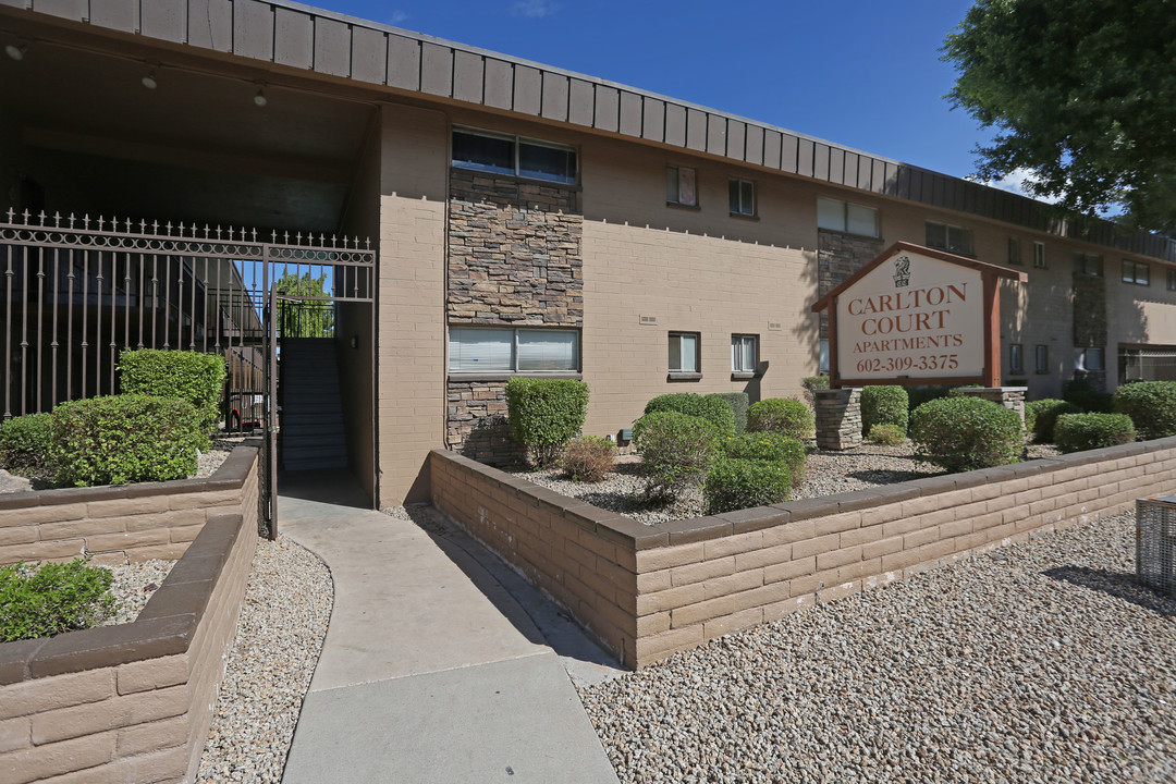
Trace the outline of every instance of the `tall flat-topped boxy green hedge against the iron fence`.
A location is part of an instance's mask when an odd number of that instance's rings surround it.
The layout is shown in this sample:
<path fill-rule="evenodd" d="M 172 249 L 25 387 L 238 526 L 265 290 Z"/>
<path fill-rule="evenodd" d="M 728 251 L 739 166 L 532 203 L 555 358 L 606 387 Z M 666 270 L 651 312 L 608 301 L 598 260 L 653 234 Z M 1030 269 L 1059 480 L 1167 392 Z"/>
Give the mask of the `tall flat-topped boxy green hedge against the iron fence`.
<path fill-rule="evenodd" d="M 225 357 L 200 351 L 127 349 L 119 356 L 119 389 L 125 395 L 175 397 L 192 403 L 207 436 L 220 420 Z M 205 438 L 201 449 L 207 448 Z"/>

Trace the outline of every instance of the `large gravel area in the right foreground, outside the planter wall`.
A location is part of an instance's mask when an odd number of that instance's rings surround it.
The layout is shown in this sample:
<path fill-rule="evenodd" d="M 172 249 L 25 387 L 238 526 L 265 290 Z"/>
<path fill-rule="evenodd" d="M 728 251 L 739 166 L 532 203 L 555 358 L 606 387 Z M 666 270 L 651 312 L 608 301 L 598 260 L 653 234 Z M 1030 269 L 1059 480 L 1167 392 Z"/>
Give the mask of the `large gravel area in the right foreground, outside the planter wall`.
<path fill-rule="evenodd" d="M 1118 515 L 580 691 L 624 784 L 1176 780 L 1176 599 Z"/>

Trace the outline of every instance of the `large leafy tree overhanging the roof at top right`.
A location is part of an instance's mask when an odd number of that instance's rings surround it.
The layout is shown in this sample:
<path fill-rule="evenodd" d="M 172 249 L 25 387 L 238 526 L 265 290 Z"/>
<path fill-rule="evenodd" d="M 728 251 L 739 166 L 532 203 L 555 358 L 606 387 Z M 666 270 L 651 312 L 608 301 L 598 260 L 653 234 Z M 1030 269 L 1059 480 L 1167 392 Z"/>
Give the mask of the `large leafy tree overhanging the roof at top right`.
<path fill-rule="evenodd" d="M 1028 169 L 1071 213 L 1176 227 L 1176 4 L 977 0 L 943 53 L 953 107 L 998 129 L 982 177 Z"/>

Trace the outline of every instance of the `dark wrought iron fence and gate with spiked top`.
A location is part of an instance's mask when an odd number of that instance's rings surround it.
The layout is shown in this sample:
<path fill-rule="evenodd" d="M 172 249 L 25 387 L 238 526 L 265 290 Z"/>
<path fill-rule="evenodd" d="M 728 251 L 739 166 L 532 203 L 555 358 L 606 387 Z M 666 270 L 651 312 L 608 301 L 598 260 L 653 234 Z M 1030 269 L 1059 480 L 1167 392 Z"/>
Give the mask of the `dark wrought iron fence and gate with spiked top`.
<path fill-rule="evenodd" d="M 276 536 L 279 300 L 374 302 L 369 242 L 9 209 L 0 269 L 4 420 L 115 394 L 125 349 L 221 355 L 225 428 L 265 434 L 260 516 Z"/>

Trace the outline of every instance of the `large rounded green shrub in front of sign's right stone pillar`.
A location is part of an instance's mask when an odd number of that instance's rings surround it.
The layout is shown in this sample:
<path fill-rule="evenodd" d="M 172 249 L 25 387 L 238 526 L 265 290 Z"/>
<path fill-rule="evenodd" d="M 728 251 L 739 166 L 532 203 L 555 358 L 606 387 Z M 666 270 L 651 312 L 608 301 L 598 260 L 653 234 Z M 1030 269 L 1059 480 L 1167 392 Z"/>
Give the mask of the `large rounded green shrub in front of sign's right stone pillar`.
<path fill-rule="evenodd" d="M 1021 417 L 978 397 L 942 397 L 910 415 L 910 440 L 920 460 L 948 471 L 1004 465 L 1024 447 Z"/>

